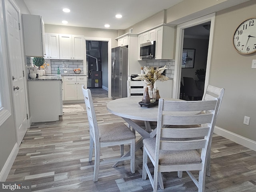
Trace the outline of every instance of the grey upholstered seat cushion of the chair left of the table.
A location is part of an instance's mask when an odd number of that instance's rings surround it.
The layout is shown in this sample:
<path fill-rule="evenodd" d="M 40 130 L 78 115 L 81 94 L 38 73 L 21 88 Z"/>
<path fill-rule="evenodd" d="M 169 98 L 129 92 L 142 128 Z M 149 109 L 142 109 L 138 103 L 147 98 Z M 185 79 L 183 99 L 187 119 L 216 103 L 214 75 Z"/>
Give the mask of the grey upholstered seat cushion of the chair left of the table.
<path fill-rule="evenodd" d="M 134 139 L 135 134 L 124 123 L 98 125 L 100 142 Z"/>

